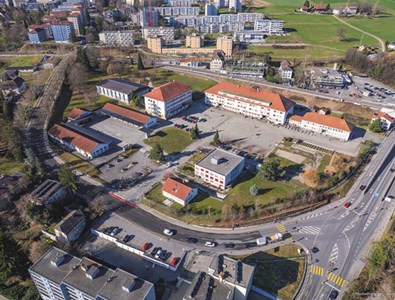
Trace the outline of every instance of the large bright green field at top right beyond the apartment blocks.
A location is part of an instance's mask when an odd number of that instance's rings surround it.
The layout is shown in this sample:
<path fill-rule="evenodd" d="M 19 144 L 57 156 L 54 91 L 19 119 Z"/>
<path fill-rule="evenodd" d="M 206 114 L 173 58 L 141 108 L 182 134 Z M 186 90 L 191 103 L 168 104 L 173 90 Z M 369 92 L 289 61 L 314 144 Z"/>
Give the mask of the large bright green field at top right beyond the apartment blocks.
<path fill-rule="evenodd" d="M 251 52 L 272 52 L 275 60 L 280 59 L 302 59 L 311 56 L 312 59 L 333 59 L 339 58 L 351 47 L 360 44 L 374 45 L 379 47 L 379 42 L 366 34 L 348 27 L 330 15 L 315 15 L 294 12 L 304 0 L 267 0 L 271 5 L 260 7 L 258 12 L 265 14 L 272 19 L 284 20 L 284 28 L 290 32 L 288 37 L 269 37 L 269 42 L 277 43 L 305 43 L 311 46 L 301 49 L 271 49 L 269 47 L 249 47 Z M 261 2 L 257 2 L 258 4 Z M 310 2 L 314 3 L 314 2 Z M 320 3 L 317 1 L 317 3 Z M 330 3 L 332 8 L 346 5 L 349 1 L 329 0 L 323 3 Z M 375 2 L 374 2 L 375 3 Z M 377 18 L 351 17 L 344 19 L 346 22 L 377 35 L 383 40 L 395 40 L 395 2 L 390 0 L 378 1 L 378 5 L 385 10 L 385 13 Z M 346 29 L 346 41 L 339 41 L 337 30 Z M 383 30 L 385 28 L 385 30 Z M 256 48 L 261 48 L 261 51 Z"/>

